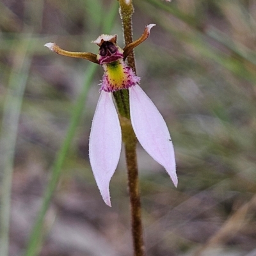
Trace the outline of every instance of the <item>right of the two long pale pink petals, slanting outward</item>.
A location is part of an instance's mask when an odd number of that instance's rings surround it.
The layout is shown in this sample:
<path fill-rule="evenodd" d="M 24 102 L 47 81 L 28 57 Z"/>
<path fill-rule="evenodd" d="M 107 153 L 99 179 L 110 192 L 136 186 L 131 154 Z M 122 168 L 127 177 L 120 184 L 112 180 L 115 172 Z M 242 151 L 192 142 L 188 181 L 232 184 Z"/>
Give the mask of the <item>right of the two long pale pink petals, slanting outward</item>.
<path fill-rule="evenodd" d="M 132 127 L 141 146 L 164 166 L 177 186 L 173 144 L 163 116 L 140 86 L 130 87 L 129 94 Z"/>

